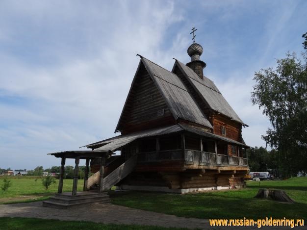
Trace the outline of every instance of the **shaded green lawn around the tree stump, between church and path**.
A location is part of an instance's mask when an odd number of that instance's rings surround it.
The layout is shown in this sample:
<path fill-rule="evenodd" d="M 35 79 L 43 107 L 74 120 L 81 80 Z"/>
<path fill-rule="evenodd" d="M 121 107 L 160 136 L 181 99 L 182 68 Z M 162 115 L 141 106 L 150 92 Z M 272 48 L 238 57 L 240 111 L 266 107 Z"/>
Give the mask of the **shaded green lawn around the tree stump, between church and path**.
<path fill-rule="evenodd" d="M 194 194 L 113 192 L 112 203 L 183 217 L 212 218 L 294 218 L 307 219 L 307 178 L 260 181 L 261 188 L 283 189 L 296 201 L 284 204 L 256 199 L 259 182 L 248 181 L 247 189 Z"/>

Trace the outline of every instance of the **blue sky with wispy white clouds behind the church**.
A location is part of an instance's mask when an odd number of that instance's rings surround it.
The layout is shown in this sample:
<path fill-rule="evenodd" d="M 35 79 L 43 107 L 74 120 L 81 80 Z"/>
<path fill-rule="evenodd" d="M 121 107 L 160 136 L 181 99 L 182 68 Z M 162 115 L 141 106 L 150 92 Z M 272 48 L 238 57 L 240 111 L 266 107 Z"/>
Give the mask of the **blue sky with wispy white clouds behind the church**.
<path fill-rule="evenodd" d="M 171 71 L 190 61 L 192 26 L 204 75 L 249 125 L 246 144 L 265 147 L 254 73 L 303 51 L 306 12 L 305 0 L 1 0 L 0 168 L 60 165 L 47 153 L 118 135 L 136 54 Z"/>

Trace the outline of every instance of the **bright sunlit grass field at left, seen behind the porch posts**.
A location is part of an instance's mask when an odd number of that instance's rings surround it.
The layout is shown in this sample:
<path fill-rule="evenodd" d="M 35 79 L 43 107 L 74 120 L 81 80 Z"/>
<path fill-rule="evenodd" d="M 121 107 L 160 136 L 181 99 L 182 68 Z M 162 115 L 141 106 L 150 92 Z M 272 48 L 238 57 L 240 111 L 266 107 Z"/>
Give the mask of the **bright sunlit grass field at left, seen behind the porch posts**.
<path fill-rule="evenodd" d="M 19 176 L 7 177 L 11 180 L 12 186 L 6 192 L 0 190 L 0 204 L 32 202 L 46 200 L 57 192 L 58 179 L 56 183 L 46 191 L 42 184 L 42 177 Z M 0 185 L 3 178 L 0 178 Z M 64 179 L 63 192 L 70 192 L 73 188 L 73 179 Z M 83 179 L 78 180 L 78 190 L 83 190 Z"/>

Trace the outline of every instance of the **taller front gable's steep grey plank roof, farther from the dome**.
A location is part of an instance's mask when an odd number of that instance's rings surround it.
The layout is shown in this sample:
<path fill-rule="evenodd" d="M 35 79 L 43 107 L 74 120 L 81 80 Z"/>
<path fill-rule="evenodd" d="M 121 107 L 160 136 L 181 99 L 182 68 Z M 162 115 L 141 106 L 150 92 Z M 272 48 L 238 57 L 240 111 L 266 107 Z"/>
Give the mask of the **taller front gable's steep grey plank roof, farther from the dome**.
<path fill-rule="evenodd" d="M 188 91 L 187 87 L 183 84 L 183 82 L 177 75 L 142 56 L 140 57 L 141 60 L 136 74 L 133 78 L 115 132 L 119 130 L 119 126 L 128 102 L 128 98 L 130 96 L 134 81 L 137 77 L 137 73 L 141 65 L 144 65 L 150 77 L 153 79 L 155 86 L 161 93 L 175 120 L 183 119 L 199 125 L 203 125 L 208 128 L 212 128 L 205 114 L 201 111 L 200 107 L 191 96 L 191 93 Z"/>

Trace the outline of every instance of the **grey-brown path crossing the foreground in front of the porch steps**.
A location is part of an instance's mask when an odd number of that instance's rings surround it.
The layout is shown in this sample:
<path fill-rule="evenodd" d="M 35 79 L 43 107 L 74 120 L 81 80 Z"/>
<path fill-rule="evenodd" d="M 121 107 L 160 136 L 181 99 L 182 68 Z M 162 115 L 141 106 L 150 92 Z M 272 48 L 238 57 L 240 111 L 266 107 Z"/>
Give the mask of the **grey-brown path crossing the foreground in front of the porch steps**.
<path fill-rule="evenodd" d="M 196 218 L 184 218 L 140 209 L 128 208 L 114 204 L 96 204 L 91 206 L 55 209 L 43 207 L 42 202 L 0 204 L 0 217 L 34 217 L 70 221 L 92 221 L 113 224 L 137 224 L 189 229 L 217 230 L 221 227 L 210 227 L 209 221 Z M 227 227 L 227 230 L 242 229 Z M 256 230 L 257 228 L 248 228 Z M 262 228 L 261 228 L 262 229 Z M 263 228 L 278 230 L 280 228 Z M 289 227 L 287 228 L 289 229 Z M 299 228 L 294 228 L 299 229 Z"/>

